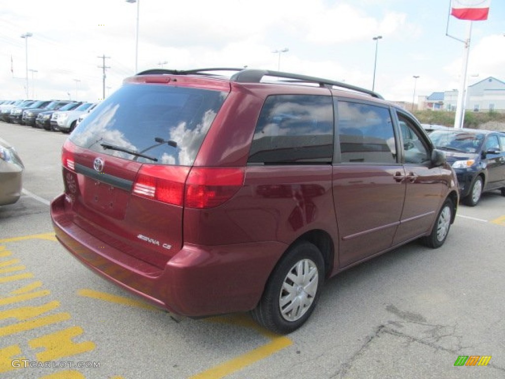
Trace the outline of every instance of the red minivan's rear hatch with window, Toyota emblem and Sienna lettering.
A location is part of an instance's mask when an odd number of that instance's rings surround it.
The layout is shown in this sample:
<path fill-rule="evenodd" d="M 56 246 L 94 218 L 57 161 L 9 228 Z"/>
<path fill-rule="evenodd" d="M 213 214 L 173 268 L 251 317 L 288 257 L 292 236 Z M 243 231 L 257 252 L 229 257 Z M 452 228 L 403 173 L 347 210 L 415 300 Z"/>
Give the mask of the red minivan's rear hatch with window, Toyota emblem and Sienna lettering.
<path fill-rule="evenodd" d="M 76 225 L 104 246 L 161 269 L 182 247 L 185 181 L 229 84 L 135 80 L 97 106 L 66 141 L 65 193 Z"/>

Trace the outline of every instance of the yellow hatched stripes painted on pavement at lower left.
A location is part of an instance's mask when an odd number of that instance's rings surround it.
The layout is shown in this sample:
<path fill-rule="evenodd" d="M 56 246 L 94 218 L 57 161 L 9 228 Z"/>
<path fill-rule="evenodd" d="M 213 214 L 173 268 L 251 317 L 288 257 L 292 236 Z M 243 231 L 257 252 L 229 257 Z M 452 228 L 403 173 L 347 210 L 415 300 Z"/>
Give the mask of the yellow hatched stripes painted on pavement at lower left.
<path fill-rule="evenodd" d="M 56 241 L 54 233 L 34 234 L 18 238 L 0 240 L 0 243 L 42 239 Z M 26 267 L 20 264 L 20 259 L 12 258 L 12 252 L 0 245 L 0 289 L 4 283 L 13 283 L 33 278 L 33 273 L 26 272 Z M 25 271 L 12 275 L 15 271 Z M 0 337 L 21 334 L 27 330 L 41 328 L 47 325 L 59 324 L 71 319 L 68 312 L 52 313 L 60 308 L 59 301 L 48 301 L 37 306 L 19 306 L 12 309 L 2 309 L 6 305 L 24 303 L 49 296 L 51 291 L 42 288 L 40 280 L 20 285 L 19 288 L 0 295 Z M 49 313 L 51 312 L 51 313 Z M 20 370 L 25 367 L 15 366 L 13 362 L 20 360 L 38 362 L 54 362 L 64 357 L 90 352 L 95 349 L 91 341 L 74 342 L 84 330 L 80 326 L 63 327 L 52 333 L 44 333 L 19 344 L 0 347 L 0 373 Z M 25 336 L 25 335 L 21 335 Z M 28 336 L 25 338 L 29 338 Z M 23 347 L 23 348 L 22 348 Z M 28 358 L 27 358 L 28 357 Z M 75 370 L 61 370 L 44 376 L 46 379 L 82 379 L 82 373 Z M 119 378 L 119 377 L 118 377 Z"/>

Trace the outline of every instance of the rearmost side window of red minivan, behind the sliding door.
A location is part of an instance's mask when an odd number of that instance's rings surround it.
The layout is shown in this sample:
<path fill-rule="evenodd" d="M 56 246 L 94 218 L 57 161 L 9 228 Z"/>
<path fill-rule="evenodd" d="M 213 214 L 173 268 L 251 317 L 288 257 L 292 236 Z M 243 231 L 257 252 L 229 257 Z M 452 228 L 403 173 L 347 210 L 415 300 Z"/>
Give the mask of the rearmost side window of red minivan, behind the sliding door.
<path fill-rule="evenodd" d="M 248 162 L 331 163 L 331 96 L 274 95 L 267 98 L 256 125 Z"/>

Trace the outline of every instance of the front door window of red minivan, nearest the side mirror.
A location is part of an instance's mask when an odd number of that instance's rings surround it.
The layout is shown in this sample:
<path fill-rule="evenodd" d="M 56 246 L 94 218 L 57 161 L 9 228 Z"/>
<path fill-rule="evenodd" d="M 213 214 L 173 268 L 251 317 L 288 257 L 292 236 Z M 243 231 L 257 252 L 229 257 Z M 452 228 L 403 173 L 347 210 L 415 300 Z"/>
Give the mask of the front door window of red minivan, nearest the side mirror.
<path fill-rule="evenodd" d="M 426 142 L 419 136 L 419 130 L 407 116 L 398 113 L 398 126 L 403 139 L 405 163 L 422 164 L 430 161 L 429 149 Z"/>

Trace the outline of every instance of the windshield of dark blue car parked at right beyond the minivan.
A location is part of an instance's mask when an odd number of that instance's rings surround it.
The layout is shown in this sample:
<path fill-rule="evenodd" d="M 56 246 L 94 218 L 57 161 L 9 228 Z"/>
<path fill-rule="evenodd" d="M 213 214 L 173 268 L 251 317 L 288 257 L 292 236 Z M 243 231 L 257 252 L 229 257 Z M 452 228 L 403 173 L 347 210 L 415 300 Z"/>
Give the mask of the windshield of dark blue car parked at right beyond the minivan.
<path fill-rule="evenodd" d="M 437 149 L 454 150 L 463 153 L 477 153 L 485 135 L 467 131 L 435 130 L 430 138 Z"/>

